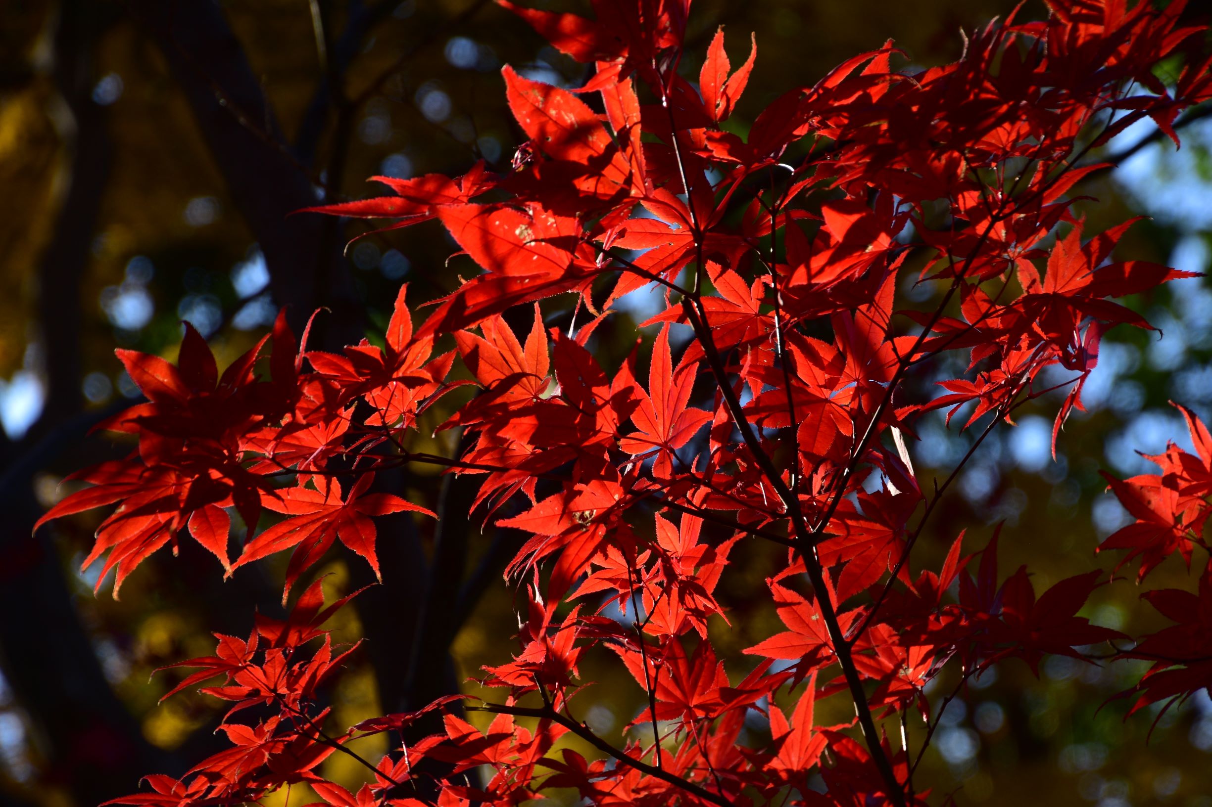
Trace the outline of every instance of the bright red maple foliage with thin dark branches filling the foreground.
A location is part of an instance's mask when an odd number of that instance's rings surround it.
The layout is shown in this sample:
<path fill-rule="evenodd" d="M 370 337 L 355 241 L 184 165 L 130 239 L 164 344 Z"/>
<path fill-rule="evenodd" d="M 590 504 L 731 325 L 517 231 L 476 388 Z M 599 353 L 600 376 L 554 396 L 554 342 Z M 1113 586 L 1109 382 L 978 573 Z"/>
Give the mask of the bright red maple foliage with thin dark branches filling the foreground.
<path fill-rule="evenodd" d="M 598 0 L 596 19 L 502 5 L 595 65 L 574 90 L 505 68 L 528 138 L 513 171 L 376 177 L 393 195 L 316 208 L 399 219 L 389 229 L 438 219 L 480 274 L 416 328 L 401 288 L 382 348 L 307 350 L 280 319 L 268 373 L 258 345 L 219 378 L 191 330 L 176 367 L 121 353 L 148 402 L 108 428 L 137 435 L 138 451 L 81 474 L 95 487 L 46 516 L 119 504 L 86 561 L 104 556 L 115 595 L 188 526 L 228 573 L 293 550 L 285 596 L 337 539 L 377 572 L 375 516 L 434 515 L 372 491 L 377 470 L 433 462 L 480 475 L 476 510 L 530 536 L 507 577 L 533 580 L 518 654 L 482 681 L 505 691 L 480 706 L 498 716 L 480 732 L 446 715 L 445 734 L 400 748 L 350 794 L 319 779 L 316 762 L 412 716 L 320 734 L 313 691 L 343 656 L 325 640 L 295 659 L 319 635 L 311 616 L 307 630 L 259 625 L 185 663 L 202 669 L 181 686 L 223 674 L 206 692 L 276 711 L 225 723 L 235 748 L 193 779 L 153 779 L 156 795 L 121 803 L 242 801 L 291 782 L 335 807 L 412 803 L 404 792 L 416 788 L 395 788 L 423 757 L 446 766 L 441 805 L 514 805 L 551 788 L 598 805 L 749 805 L 788 788 L 813 805 L 920 802 L 916 761 L 876 720 L 920 710 L 928 721 L 925 685 L 953 659 L 966 679 L 1008 658 L 1082 657 L 1120 634 L 1077 616 L 1097 572 L 1036 595 L 1025 568 L 999 579 L 996 540 L 974 576 L 961 536 L 939 572 L 914 579 L 910 551 L 947 486 L 922 493 L 904 435 L 924 413 L 973 404 L 967 423 L 991 429 L 1050 391 L 1040 374 L 1056 367 L 1070 379 L 1054 443 L 1104 332 L 1150 327 L 1108 298 L 1185 273 L 1111 262 L 1127 225 L 1086 240 L 1068 194 L 1105 167 L 1082 158 L 1137 120 L 1177 142 L 1179 111 L 1212 98 L 1205 28 L 1182 24 L 1182 0 L 1162 11 L 1052 0 L 1046 21 L 990 24 L 944 67 L 893 69 L 891 44 L 858 56 L 776 98 L 741 137 L 721 121 L 756 45 L 733 70 L 720 32 L 693 84 L 679 71 L 688 0 Z M 1172 86 L 1153 73 L 1164 59 L 1182 64 Z M 938 290 L 930 308 L 898 307 L 914 284 Z M 595 328 L 633 292 L 662 303 L 640 325 L 657 328 L 646 383 L 639 350 L 607 367 L 594 353 Z M 545 327 L 539 301 L 555 294 L 576 296 L 572 326 Z M 519 307 L 534 311 L 525 339 L 503 316 Z M 914 366 L 953 353 L 966 371 L 941 382 L 944 394 L 893 406 Z M 419 416 L 461 384 L 456 361 L 478 393 L 439 428 L 461 428 L 468 447 L 413 451 Z M 1189 553 L 1206 517 L 1199 434 L 1201 459 L 1172 450 L 1162 476 L 1113 482 L 1139 521 L 1107 546 L 1132 548 L 1142 572 Z M 262 510 L 285 517 L 262 530 Z M 233 514 L 247 537 L 230 562 Z M 715 589 L 743 540 L 787 548 L 767 580 L 787 631 L 748 648 L 762 660 L 733 683 L 708 623 L 726 619 Z M 318 597 L 308 589 L 296 614 L 319 613 Z M 1153 601 L 1196 613 L 1177 595 Z M 619 607 L 629 616 L 611 617 Z M 623 748 L 568 710 L 593 647 L 617 654 L 648 698 Z M 1191 676 L 1159 670 L 1145 697 L 1189 689 Z M 814 699 L 835 692 L 856 720 L 813 726 Z M 750 711 L 771 729 L 756 746 L 739 740 Z M 611 759 L 553 754 L 566 733 Z M 491 771 L 480 786 L 462 775 L 476 766 Z M 824 794 L 808 788 L 817 772 Z"/>

